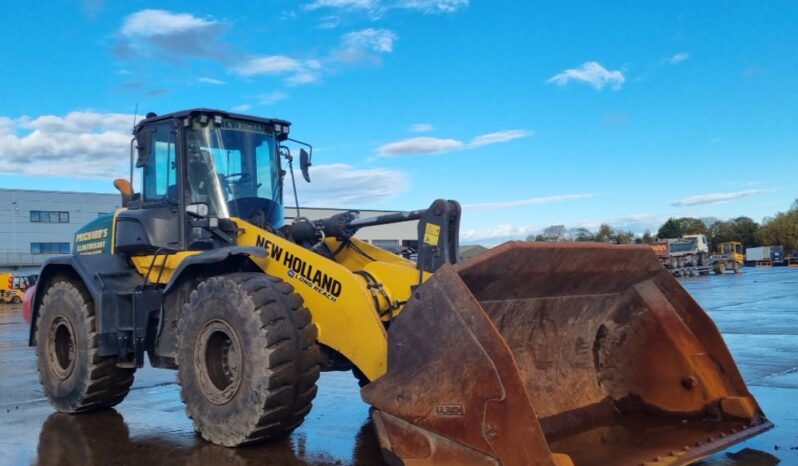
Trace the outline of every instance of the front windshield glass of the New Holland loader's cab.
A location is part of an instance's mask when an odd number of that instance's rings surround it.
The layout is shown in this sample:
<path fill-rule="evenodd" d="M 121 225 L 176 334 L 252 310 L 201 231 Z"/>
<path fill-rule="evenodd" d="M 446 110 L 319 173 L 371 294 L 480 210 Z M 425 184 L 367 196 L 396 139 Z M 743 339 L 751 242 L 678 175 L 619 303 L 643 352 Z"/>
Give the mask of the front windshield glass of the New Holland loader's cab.
<path fill-rule="evenodd" d="M 203 125 L 195 119 L 186 146 L 189 203 L 207 203 L 211 215 L 225 218 L 238 216 L 240 203 L 233 201 L 241 199 L 282 205 L 280 161 L 265 125 L 228 119 Z"/>

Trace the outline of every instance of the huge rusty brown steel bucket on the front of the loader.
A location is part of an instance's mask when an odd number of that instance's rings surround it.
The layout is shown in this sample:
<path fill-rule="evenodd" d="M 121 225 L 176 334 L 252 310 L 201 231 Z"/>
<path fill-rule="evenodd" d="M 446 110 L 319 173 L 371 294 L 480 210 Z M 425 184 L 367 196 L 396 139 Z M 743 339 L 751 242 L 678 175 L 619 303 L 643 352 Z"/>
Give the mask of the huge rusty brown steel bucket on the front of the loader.
<path fill-rule="evenodd" d="M 772 427 L 644 246 L 511 242 L 442 267 L 362 396 L 391 465 L 683 465 Z"/>

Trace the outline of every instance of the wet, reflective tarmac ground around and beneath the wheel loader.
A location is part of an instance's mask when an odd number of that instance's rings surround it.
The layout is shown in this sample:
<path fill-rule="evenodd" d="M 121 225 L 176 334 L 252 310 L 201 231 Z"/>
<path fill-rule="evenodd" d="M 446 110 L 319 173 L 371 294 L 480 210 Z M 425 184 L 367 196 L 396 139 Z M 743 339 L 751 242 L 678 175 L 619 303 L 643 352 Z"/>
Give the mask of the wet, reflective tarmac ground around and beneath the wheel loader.
<path fill-rule="evenodd" d="M 798 465 L 798 268 L 682 280 L 720 328 L 776 428 L 702 466 Z M 241 449 L 193 430 L 175 373 L 144 368 L 115 410 L 54 413 L 41 392 L 18 306 L 0 306 L 0 465 L 382 465 L 368 406 L 351 373 L 325 373 L 305 423 L 288 439 Z"/>

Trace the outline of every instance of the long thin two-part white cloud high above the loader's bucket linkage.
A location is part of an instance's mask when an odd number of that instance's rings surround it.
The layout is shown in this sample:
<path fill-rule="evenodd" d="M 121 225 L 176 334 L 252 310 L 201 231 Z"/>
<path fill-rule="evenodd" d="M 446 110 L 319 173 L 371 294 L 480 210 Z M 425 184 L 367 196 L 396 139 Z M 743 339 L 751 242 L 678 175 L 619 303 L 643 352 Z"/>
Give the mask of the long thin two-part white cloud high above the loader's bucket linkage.
<path fill-rule="evenodd" d="M 534 134 L 532 131 L 522 129 L 509 129 L 482 134 L 474 137 L 469 142 L 457 139 L 434 138 L 417 136 L 401 141 L 389 142 L 377 148 L 377 152 L 386 156 L 435 154 L 459 149 L 473 149 L 488 144 L 498 144 L 527 137 Z"/>

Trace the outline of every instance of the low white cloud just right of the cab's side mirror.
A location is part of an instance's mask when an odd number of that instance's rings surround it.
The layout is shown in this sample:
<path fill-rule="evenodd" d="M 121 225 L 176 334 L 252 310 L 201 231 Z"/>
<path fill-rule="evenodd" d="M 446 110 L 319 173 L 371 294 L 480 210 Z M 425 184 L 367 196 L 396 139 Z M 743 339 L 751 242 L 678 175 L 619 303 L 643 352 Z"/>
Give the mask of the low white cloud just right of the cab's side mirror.
<path fill-rule="evenodd" d="M 297 176 L 299 203 L 313 207 L 359 208 L 390 199 L 407 190 L 407 175 L 392 168 L 355 168 L 336 163 L 313 165 L 312 183 Z M 290 179 L 286 177 L 286 183 Z M 286 188 L 286 205 L 294 204 L 292 190 Z"/>

